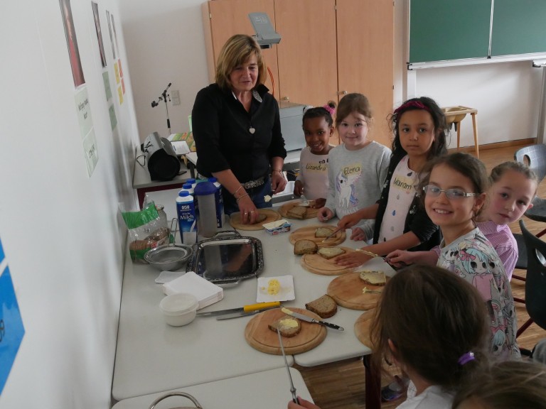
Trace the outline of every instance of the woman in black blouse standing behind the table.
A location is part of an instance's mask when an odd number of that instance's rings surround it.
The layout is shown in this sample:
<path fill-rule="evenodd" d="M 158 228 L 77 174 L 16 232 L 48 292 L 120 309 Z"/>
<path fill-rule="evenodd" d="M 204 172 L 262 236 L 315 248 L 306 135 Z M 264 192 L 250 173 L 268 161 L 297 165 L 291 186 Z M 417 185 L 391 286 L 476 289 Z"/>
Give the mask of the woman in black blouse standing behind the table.
<path fill-rule="evenodd" d="M 251 36 L 237 34 L 223 46 L 216 82 L 201 89 L 191 112 L 197 170 L 223 187 L 226 214 L 257 222 L 257 208 L 271 207 L 268 195 L 282 192 L 284 139 L 279 106 L 263 82 L 262 51 Z"/>

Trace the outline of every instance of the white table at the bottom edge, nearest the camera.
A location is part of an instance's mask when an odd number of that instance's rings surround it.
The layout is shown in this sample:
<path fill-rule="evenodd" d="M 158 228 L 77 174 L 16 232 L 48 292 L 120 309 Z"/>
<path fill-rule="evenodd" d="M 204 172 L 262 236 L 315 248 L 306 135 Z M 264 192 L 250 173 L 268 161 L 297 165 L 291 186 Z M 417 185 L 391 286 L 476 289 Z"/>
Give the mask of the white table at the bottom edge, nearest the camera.
<path fill-rule="evenodd" d="M 312 402 L 311 394 L 301 373 L 294 368 L 290 369 L 290 373 L 298 396 Z M 251 406 L 259 409 L 279 409 L 286 408 L 287 403 L 291 400 L 290 384 L 285 368 L 237 376 L 223 381 L 202 383 L 197 386 L 176 389 L 176 391 L 189 393 L 204 409 L 242 409 Z M 147 409 L 154 400 L 165 395 L 166 392 L 161 392 L 124 399 L 116 403 L 112 409 Z M 193 403 L 188 398 L 172 396 L 161 400 L 156 405 L 156 409 L 181 405 L 193 407 Z"/>

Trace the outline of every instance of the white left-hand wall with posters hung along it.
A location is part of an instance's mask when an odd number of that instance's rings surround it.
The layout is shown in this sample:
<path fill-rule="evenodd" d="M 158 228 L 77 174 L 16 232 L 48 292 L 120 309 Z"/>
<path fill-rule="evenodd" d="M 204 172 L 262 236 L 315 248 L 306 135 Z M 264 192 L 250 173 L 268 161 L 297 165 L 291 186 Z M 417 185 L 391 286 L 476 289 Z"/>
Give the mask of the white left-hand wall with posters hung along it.
<path fill-rule="evenodd" d="M 58 0 L 4 1 L 0 13 L 0 237 L 26 333 L 0 408 L 109 408 L 124 266 L 118 203 L 132 190 L 137 124 L 117 0 L 97 0 L 112 91 L 105 9 L 117 21 L 126 84 L 110 127 L 91 3 L 71 0 L 99 160 L 91 177 Z M 0 350 L 1 352 L 1 350 Z"/>

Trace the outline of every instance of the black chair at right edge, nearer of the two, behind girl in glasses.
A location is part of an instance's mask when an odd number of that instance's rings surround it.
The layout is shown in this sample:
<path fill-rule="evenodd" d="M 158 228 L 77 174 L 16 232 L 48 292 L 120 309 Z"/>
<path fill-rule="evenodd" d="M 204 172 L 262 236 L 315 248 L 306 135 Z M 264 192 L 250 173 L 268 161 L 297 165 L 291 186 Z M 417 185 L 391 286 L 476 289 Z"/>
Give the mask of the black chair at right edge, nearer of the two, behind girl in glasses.
<path fill-rule="evenodd" d="M 516 334 L 516 338 L 535 322 L 546 329 L 546 242 L 537 238 L 520 220 L 520 228 L 528 255 L 527 279 L 525 280 L 525 309 L 529 320 Z"/>

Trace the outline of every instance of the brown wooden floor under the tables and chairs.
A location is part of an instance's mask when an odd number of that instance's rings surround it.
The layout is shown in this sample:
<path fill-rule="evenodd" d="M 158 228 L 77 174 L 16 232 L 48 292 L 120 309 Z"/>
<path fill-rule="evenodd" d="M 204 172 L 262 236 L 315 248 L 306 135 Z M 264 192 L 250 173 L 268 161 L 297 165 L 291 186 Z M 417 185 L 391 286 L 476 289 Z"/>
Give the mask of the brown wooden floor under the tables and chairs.
<path fill-rule="evenodd" d="M 529 144 L 528 141 L 527 144 Z M 506 145 L 506 143 L 504 144 Z M 508 143 L 510 145 L 510 143 Z M 513 160 L 513 154 L 519 146 L 503 146 L 501 148 L 486 149 L 481 147 L 480 159 L 486 164 L 488 170 L 491 170 L 498 163 L 506 160 Z M 538 195 L 546 197 L 546 180 L 543 180 L 539 186 Z M 545 228 L 540 222 L 533 222 L 524 217 L 525 226 L 533 233 L 537 233 Z M 510 225 L 513 232 L 520 233 L 518 222 Z M 525 276 L 525 270 L 515 270 L 514 274 Z M 525 298 L 525 283 L 513 279 L 512 293 L 514 297 Z M 525 311 L 525 305 L 516 302 L 516 313 L 518 315 L 518 327 L 528 320 L 529 315 Z M 546 338 L 546 331 L 536 324 L 532 324 L 520 337 L 518 344 L 520 347 L 532 349 L 538 340 Z M 365 386 L 364 386 L 364 367 L 361 359 L 338 362 L 316 366 L 313 368 L 304 368 L 295 366 L 304 376 L 305 383 L 315 403 L 322 409 L 360 409 L 365 408 Z M 396 369 L 392 373 L 397 373 Z M 383 385 L 390 382 L 389 377 L 382 380 Z M 402 399 L 395 402 L 383 403 L 382 408 L 396 408 L 402 403 Z"/>

